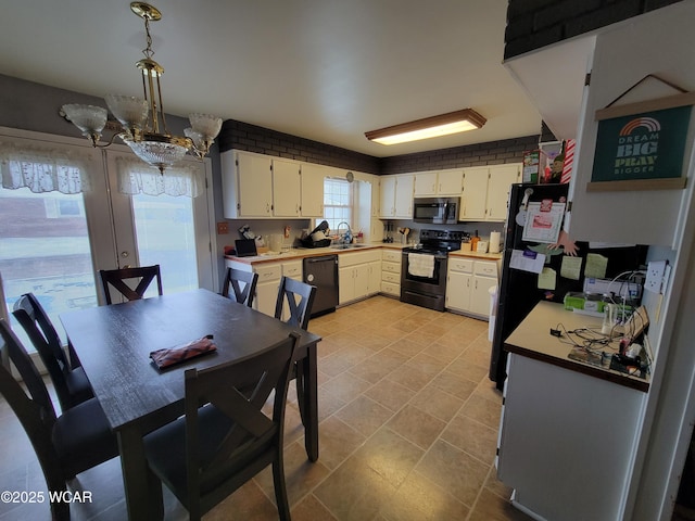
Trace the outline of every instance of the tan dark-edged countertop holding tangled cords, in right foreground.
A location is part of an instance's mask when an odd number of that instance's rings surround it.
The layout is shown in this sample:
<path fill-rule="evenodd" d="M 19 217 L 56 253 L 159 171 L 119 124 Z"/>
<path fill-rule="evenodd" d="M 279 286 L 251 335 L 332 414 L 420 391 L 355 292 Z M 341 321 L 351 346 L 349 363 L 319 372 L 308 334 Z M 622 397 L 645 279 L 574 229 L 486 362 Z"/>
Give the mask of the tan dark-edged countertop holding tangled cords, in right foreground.
<path fill-rule="evenodd" d="M 509 353 L 646 392 L 649 389 L 648 376 L 647 379 L 643 379 L 611 370 L 608 367 L 568 358 L 573 345 L 566 331 L 587 328 L 601 332 L 602 323 L 603 319 L 567 310 L 563 304 L 540 302 L 506 339 L 504 346 Z M 563 336 L 553 336 L 551 329 L 559 329 Z M 576 336 L 572 335 L 572 338 Z M 617 353 L 618 340 L 605 346 L 604 351 L 609 354 Z"/>

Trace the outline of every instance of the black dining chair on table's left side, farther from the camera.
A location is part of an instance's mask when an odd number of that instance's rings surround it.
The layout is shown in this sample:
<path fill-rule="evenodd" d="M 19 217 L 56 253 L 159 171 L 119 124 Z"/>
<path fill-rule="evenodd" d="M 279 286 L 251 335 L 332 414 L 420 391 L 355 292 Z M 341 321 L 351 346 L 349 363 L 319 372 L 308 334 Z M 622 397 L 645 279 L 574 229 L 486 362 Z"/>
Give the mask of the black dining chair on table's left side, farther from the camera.
<path fill-rule="evenodd" d="M 41 357 L 55 387 L 62 410 L 94 397 L 81 367 L 71 367 L 63 346 L 43 306 L 33 293 L 22 295 L 12 312 Z M 75 355 L 76 358 L 76 355 Z M 74 359 L 75 359 L 74 358 Z"/>

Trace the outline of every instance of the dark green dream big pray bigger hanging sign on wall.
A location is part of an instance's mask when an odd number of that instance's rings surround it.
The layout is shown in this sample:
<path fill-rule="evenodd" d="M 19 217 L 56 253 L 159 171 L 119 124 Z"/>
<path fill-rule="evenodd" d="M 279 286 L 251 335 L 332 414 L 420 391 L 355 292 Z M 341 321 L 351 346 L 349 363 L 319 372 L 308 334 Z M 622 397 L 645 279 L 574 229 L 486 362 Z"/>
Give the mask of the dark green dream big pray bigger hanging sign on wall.
<path fill-rule="evenodd" d="M 657 78 L 660 79 L 660 78 Z M 682 189 L 693 92 L 596 111 L 587 191 Z"/>

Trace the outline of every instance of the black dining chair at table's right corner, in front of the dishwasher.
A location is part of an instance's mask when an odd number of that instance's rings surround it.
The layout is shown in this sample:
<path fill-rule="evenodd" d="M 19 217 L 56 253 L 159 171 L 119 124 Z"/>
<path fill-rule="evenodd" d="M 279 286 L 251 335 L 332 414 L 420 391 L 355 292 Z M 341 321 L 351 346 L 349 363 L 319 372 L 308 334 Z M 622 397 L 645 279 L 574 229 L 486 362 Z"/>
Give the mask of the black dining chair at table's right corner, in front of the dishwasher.
<path fill-rule="evenodd" d="M 280 279 L 280 289 L 278 291 L 278 300 L 275 305 L 275 318 L 282 320 L 282 312 L 287 305 L 289 316 L 285 322 L 296 326 L 306 331 L 308 319 L 312 316 L 312 306 L 314 305 L 314 296 L 316 295 L 316 287 L 302 282 L 300 280 L 282 277 Z M 304 408 L 304 395 L 306 393 L 306 381 L 304 379 L 304 369 L 302 361 L 296 361 L 292 366 L 290 379 L 295 380 L 296 401 L 300 407 L 300 417 L 302 424 L 307 425 L 308 418 Z"/>

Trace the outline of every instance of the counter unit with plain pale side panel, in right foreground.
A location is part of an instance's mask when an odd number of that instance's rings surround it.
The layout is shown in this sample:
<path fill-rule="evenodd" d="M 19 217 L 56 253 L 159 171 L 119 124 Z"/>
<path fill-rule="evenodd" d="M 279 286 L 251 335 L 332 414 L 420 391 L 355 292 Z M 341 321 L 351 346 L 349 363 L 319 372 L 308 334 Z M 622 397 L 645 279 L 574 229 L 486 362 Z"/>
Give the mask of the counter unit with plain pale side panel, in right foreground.
<path fill-rule="evenodd" d="M 648 382 L 567 357 L 566 331 L 601 325 L 541 302 L 505 342 L 497 476 L 534 519 L 624 519 Z"/>

